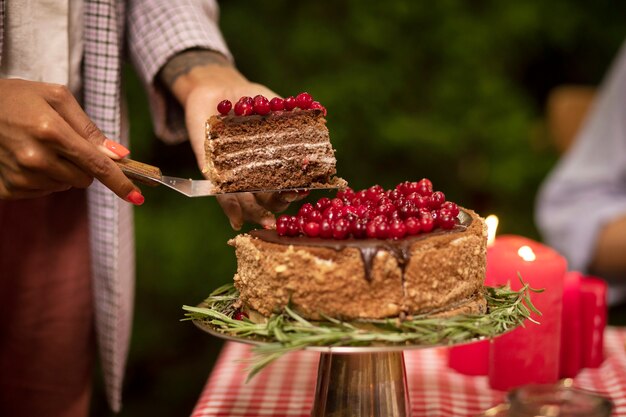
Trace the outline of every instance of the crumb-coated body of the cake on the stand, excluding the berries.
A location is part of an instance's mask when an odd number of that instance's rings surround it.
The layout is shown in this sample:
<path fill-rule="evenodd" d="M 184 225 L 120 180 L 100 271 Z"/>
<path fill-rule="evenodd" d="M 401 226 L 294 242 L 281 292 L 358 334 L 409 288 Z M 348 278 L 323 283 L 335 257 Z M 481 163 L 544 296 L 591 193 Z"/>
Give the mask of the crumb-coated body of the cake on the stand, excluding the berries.
<path fill-rule="evenodd" d="M 486 227 L 461 209 L 449 229 L 402 239 L 323 239 L 255 230 L 229 241 L 243 308 L 291 303 L 303 317 L 384 318 L 484 313 Z"/>

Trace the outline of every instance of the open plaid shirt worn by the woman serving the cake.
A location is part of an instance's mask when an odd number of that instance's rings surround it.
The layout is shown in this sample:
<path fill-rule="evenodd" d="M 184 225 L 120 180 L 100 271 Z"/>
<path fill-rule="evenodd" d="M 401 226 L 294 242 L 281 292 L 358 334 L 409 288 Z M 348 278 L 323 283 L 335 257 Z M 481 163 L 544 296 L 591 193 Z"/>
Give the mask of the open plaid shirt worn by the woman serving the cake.
<path fill-rule="evenodd" d="M 156 87 L 155 77 L 175 54 L 199 47 L 230 57 L 219 32 L 214 0 L 84 0 L 84 108 L 110 139 L 128 146 L 122 126 L 121 60 L 127 46 L 146 85 L 157 135 L 186 137 L 182 115 Z M 0 62 L 4 34 L 0 0 Z M 127 27 L 126 27 L 127 26 Z M 126 43 L 126 44 L 125 44 Z M 166 117 L 166 115 L 168 117 Z M 134 295 L 132 206 L 99 182 L 89 188 L 96 330 L 111 408 L 121 408 Z"/>

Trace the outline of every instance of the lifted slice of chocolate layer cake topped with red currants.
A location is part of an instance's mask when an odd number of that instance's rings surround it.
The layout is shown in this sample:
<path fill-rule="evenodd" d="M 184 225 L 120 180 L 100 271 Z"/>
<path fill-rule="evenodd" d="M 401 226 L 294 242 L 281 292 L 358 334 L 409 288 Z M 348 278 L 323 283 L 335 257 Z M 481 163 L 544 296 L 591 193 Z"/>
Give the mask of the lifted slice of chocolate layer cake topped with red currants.
<path fill-rule="evenodd" d="M 218 192 L 341 185 L 326 109 L 308 93 L 218 105 L 206 123 L 204 173 Z"/>

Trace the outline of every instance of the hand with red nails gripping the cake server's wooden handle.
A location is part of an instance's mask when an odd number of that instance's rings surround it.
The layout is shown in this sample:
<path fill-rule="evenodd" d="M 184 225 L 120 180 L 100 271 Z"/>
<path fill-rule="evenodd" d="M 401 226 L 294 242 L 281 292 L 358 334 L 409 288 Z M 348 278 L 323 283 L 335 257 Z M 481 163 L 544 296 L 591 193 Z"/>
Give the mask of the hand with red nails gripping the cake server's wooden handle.
<path fill-rule="evenodd" d="M 135 204 L 143 197 L 113 159 L 128 154 L 108 140 L 61 85 L 0 80 L 0 198 L 44 196 L 94 178 Z"/>

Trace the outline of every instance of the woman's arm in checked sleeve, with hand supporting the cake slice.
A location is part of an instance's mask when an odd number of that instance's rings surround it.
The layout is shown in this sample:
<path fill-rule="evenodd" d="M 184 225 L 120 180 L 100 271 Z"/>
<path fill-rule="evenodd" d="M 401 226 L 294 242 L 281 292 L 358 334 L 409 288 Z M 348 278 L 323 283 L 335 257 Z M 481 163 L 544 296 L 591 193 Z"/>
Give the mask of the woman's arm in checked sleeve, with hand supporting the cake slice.
<path fill-rule="evenodd" d="M 218 30 L 215 2 L 136 0 L 129 17 L 130 50 L 148 85 L 157 134 L 170 140 L 183 138 L 182 130 L 172 129 L 176 121 L 169 128 L 164 121 L 169 115 L 176 115 L 176 109 L 184 110 L 178 115 L 185 123 L 179 125 L 189 132 L 202 169 L 205 122 L 215 112 L 217 103 L 225 98 L 236 101 L 243 95 L 276 94 L 248 81 L 232 64 Z M 174 28 L 168 30 L 168 25 Z M 168 96 L 173 100 L 168 101 Z M 220 196 L 218 202 L 231 226 L 239 229 L 244 221 L 272 226 L 275 219 L 271 212 L 282 211 L 290 201 L 304 197 L 294 193 L 236 194 Z"/>

